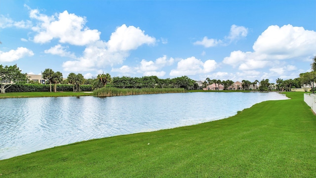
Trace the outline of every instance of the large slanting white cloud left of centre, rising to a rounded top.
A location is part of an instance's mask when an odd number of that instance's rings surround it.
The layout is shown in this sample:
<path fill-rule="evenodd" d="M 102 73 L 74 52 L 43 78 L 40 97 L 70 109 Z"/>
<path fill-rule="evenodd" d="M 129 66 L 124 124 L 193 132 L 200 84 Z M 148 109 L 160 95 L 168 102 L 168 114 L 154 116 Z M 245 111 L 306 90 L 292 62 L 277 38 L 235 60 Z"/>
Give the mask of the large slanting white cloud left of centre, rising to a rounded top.
<path fill-rule="evenodd" d="M 88 45 L 83 51 L 83 56 L 78 60 L 63 63 L 65 71 L 90 71 L 105 66 L 121 64 L 129 56 L 130 50 L 141 45 L 154 44 L 155 38 L 144 34 L 139 28 L 127 27 L 123 24 L 112 33 L 110 40 L 106 42 L 97 41 Z"/>

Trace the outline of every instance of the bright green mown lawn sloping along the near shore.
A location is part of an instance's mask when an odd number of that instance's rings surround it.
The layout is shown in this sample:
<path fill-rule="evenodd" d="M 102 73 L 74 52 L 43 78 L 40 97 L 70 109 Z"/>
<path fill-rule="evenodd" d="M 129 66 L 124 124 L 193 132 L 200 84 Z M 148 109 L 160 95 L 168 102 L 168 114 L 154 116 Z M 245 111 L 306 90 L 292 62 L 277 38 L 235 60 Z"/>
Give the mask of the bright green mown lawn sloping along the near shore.
<path fill-rule="evenodd" d="M 0 161 L 3 178 L 315 178 L 316 116 L 303 101 L 255 104 L 176 129 L 83 141 Z"/>

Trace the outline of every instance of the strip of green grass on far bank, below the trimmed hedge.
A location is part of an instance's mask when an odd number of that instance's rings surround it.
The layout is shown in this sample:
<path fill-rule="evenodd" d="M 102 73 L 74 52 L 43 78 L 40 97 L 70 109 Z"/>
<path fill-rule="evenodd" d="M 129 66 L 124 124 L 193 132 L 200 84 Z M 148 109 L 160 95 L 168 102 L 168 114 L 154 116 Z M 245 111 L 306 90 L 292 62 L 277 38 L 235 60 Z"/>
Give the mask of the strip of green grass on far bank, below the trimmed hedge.
<path fill-rule="evenodd" d="M 20 97 L 56 97 L 56 96 L 91 96 L 89 92 L 7 92 L 0 93 L 0 98 L 20 98 Z"/>

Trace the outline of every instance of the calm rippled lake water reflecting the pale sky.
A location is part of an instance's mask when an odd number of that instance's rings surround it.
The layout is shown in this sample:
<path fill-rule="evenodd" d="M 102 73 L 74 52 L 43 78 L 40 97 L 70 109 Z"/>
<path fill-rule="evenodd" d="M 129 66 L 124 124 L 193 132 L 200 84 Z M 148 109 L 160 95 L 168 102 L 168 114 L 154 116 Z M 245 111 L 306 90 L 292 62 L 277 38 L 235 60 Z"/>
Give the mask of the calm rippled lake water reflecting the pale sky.
<path fill-rule="evenodd" d="M 224 119 L 276 92 L 0 99 L 0 160 L 78 141 Z"/>

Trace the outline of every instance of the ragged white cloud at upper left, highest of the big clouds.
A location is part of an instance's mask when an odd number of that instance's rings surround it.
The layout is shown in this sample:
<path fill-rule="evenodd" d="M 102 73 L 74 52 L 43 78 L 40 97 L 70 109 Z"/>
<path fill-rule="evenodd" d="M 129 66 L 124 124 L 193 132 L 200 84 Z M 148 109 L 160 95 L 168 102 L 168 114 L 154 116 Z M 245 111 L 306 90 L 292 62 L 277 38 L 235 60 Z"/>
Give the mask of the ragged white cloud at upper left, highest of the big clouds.
<path fill-rule="evenodd" d="M 67 10 L 47 16 L 40 14 L 38 9 L 33 9 L 30 11 L 30 17 L 39 21 L 37 26 L 32 28 L 38 33 L 34 37 L 35 43 L 48 43 L 55 38 L 59 39 L 60 43 L 88 45 L 100 39 L 98 30 L 90 30 L 85 26 L 85 17 L 68 13 Z"/>

